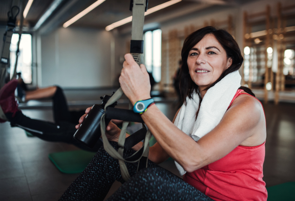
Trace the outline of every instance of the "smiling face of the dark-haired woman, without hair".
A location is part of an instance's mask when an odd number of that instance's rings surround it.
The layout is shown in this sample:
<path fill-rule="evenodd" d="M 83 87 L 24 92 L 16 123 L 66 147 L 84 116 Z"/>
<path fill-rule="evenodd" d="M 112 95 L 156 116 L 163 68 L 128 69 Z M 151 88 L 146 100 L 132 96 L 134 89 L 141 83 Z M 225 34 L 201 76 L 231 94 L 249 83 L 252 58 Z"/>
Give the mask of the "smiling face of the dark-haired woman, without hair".
<path fill-rule="evenodd" d="M 189 51 L 187 65 L 192 80 L 203 90 L 232 65 L 232 59 L 215 36 L 207 34 Z"/>

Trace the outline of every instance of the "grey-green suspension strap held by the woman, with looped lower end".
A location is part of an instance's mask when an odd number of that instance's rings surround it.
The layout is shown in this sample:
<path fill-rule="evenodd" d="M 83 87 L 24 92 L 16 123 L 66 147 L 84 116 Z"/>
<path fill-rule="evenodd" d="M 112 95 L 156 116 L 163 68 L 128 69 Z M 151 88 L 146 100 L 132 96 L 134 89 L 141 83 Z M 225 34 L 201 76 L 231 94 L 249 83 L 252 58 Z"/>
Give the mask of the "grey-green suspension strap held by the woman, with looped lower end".
<path fill-rule="evenodd" d="M 147 10 L 148 6 L 148 0 L 131 0 L 130 3 L 130 10 L 132 10 L 132 40 L 130 43 L 130 53 L 133 56 L 134 60 L 137 62 L 138 65 L 140 65 L 140 59 L 141 55 L 143 54 L 143 28 L 144 28 L 144 20 L 145 20 L 145 11 Z M 110 100 L 105 105 L 105 112 L 107 111 L 107 107 L 115 103 L 121 96 L 123 95 L 123 91 L 121 88 L 119 88 L 115 94 L 112 95 Z M 130 104 L 130 109 L 132 108 L 132 105 Z M 141 168 L 146 168 L 148 164 L 148 149 L 149 149 L 149 140 L 151 137 L 150 131 L 146 130 L 145 125 L 143 124 L 143 129 L 139 131 L 145 131 L 146 137 L 144 140 L 144 144 L 141 149 L 136 151 L 132 156 L 123 158 L 123 152 L 124 152 L 124 143 L 125 143 L 125 137 L 126 137 L 126 128 L 128 125 L 128 121 L 124 121 L 121 129 L 121 133 L 118 139 L 118 152 L 116 151 L 113 146 L 109 143 L 105 131 L 106 131 L 106 125 L 105 125 L 105 114 L 101 117 L 101 136 L 103 140 L 104 149 L 115 159 L 118 159 L 120 169 L 121 169 L 121 175 L 125 181 L 127 181 L 130 178 L 130 174 L 127 170 L 127 167 L 124 163 L 134 163 L 138 162 L 138 168 L 137 170 L 140 170 Z M 138 131 L 138 132 L 139 132 Z M 135 134 L 133 134 L 135 135 Z M 131 137 L 131 136 L 130 136 Z M 129 137 L 128 137 L 129 138 Z"/>

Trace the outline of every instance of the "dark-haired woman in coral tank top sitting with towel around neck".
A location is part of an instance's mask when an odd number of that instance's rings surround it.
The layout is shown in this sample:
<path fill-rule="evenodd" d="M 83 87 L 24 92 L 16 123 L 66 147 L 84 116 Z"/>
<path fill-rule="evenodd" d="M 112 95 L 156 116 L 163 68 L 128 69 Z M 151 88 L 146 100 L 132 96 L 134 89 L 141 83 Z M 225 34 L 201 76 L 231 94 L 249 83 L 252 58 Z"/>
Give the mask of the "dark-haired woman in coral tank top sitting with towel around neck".
<path fill-rule="evenodd" d="M 119 82 L 134 105 L 150 98 L 148 73 L 130 54 L 125 59 Z M 149 148 L 148 168 L 136 173 L 137 164 L 126 163 L 132 177 L 124 183 L 118 160 L 101 147 L 59 201 L 102 201 L 115 180 L 123 185 L 108 201 L 266 201 L 266 120 L 262 104 L 240 86 L 243 57 L 235 39 L 222 29 L 199 29 L 185 39 L 181 59 L 183 105 L 174 121 L 155 105 L 141 115 L 157 140 Z M 120 130 L 109 127 L 118 149 Z M 156 165 L 169 157 L 183 180 Z"/>

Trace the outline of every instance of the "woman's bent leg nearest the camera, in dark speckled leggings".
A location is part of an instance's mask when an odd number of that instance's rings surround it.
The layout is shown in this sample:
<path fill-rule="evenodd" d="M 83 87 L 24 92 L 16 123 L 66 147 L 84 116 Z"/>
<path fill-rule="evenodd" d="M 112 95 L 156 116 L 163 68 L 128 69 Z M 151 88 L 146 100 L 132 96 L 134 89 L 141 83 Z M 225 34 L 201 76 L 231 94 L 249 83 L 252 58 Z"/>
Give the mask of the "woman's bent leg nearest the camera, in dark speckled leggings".
<path fill-rule="evenodd" d="M 175 174 L 150 167 L 134 174 L 107 201 L 213 201 Z"/>

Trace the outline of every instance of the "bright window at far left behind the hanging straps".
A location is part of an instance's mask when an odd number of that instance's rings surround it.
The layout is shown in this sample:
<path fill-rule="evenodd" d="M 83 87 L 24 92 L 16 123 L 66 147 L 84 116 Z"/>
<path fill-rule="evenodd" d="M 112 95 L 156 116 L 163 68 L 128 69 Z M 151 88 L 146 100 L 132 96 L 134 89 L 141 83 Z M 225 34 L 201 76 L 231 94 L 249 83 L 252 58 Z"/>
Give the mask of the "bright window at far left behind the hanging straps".
<path fill-rule="evenodd" d="M 14 71 L 18 40 L 19 34 L 13 33 L 10 45 L 10 76 L 13 75 Z M 21 36 L 17 72 L 22 73 L 25 83 L 32 83 L 32 36 L 30 34 L 23 33 Z"/>

